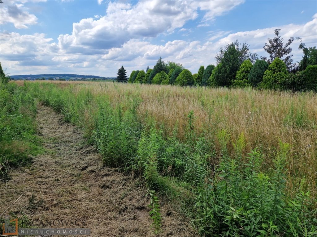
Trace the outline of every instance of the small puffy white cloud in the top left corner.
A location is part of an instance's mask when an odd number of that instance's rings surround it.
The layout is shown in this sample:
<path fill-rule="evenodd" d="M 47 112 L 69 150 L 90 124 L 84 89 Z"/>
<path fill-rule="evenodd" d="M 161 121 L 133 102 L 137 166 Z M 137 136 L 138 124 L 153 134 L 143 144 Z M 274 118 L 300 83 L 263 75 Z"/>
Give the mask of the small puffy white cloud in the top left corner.
<path fill-rule="evenodd" d="M 0 8 L 0 24 L 13 23 L 17 29 L 26 29 L 27 25 L 37 23 L 37 17 L 24 7 L 26 1 L 3 1 Z"/>

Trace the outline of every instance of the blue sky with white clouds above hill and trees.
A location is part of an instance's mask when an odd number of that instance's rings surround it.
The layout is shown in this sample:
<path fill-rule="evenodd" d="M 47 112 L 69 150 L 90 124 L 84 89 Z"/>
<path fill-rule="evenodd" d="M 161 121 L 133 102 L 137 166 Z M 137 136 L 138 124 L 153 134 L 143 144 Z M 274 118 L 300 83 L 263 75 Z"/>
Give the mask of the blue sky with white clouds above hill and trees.
<path fill-rule="evenodd" d="M 129 75 L 159 57 L 192 73 L 216 65 L 220 47 L 263 46 L 281 29 L 284 42 L 317 46 L 317 1 L 2 0 L 0 62 L 8 75 Z M 303 53 L 295 40 L 293 60 Z"/>

